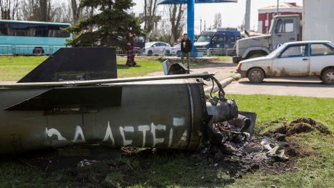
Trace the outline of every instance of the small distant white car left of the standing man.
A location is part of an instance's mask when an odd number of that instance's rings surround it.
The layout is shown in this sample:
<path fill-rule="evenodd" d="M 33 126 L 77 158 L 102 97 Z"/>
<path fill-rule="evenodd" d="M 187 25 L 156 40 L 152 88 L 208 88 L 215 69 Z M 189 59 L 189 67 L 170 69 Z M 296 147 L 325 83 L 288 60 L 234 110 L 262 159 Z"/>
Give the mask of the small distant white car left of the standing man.
<path fill-rule="evenodd" d="M 147 42 L 145 43 L 145 55 L 161 56 L 170 55 L 171 47 L 166 42 Z"/>

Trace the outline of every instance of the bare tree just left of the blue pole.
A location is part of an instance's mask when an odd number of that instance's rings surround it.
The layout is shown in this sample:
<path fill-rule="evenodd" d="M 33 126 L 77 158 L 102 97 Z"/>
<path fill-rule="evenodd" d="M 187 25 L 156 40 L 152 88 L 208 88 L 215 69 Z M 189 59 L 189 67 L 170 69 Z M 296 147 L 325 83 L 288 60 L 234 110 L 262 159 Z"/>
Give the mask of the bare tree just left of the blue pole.
<path fill-rule="evenodd" d="M 167 6 L 167 14 L 170 20 L 170 44 L 173 45 L 175 40 L 182 35 L 184 29 L 184 10 L 183 4 L 173 4 Z"/>

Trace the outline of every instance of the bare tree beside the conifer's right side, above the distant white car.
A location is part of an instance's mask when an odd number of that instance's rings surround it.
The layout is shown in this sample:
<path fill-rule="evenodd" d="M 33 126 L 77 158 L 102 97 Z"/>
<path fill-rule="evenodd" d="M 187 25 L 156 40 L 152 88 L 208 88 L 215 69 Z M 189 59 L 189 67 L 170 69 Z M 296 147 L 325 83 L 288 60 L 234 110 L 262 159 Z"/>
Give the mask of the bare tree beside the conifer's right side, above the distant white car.
<path fill-rule="evenodd" d="M 150 38 L 150 33 L 154 29 L 154 25 L 156 25 L 157 22 L 157 0 L 144 0 L 143 23 L 146 40 Z"/>

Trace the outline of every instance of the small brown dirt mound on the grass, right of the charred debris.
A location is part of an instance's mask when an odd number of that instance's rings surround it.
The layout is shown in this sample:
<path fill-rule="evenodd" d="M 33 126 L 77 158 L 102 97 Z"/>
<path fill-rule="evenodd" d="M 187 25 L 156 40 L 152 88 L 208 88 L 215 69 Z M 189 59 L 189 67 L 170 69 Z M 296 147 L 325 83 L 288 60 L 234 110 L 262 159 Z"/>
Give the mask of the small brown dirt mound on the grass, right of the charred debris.
<path fill-rule="evenodd" d="M 300 134 L 303 132 L 311 132 L 317 130 L 321 134 L 331 134 L 326 125 L 312 120 L 311 118 L 298 118 L 290 123 L 285 123 L 283 127 L 279 127 L 272 133 L 286 134 L 287 136 L 292 136 L 294 134 Z"/>

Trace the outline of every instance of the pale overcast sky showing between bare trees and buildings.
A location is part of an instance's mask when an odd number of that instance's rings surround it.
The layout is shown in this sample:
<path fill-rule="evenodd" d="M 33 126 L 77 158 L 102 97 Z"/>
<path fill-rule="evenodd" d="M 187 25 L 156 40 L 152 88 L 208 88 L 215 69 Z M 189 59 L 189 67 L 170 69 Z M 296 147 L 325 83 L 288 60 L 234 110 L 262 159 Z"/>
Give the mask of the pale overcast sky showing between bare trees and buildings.
<path fill-rule="evenodd" d="M 280 2 L 295 2 L 302 6 L 303 0 L 279 0 Z M 259 8 L 273 6 L 277 0 L 251 0 L 250 10 L 250 29 L 257 30 L 257 10 Z M 143 12 L 143 0 L 134 0 L 134 12 Z M 164 13 L 164 5 L 159 6 L 159 15 Z M 239 0 L 238 3 L 198 3 L 195 5 L 195 27 L 196 33 L 200 32 L 200 19 L 202 19 L 202 28 L 204 20 L 206 26 L 214 24 L 215 13 L 221 13 L 222 26 L 237 27 L 242 24 L 246 10 L 246 0 Z"/>

